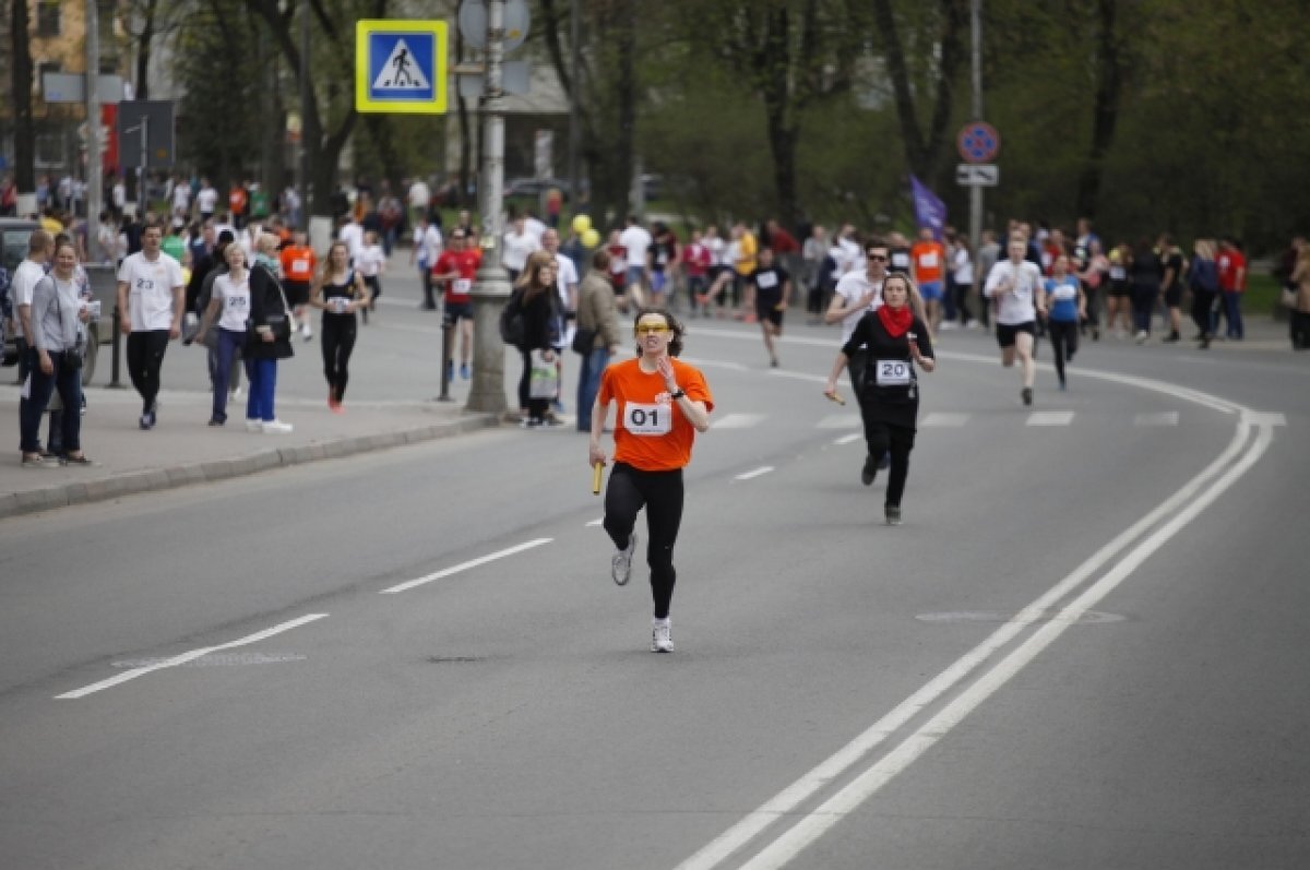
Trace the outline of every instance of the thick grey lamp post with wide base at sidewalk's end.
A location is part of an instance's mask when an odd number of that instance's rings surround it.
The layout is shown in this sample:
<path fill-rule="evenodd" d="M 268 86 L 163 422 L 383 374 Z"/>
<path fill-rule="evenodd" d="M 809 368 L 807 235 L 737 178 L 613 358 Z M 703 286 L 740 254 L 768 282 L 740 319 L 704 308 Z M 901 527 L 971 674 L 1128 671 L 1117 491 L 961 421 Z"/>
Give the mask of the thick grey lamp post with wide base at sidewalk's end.
<path fill-rule="evenodd" d="M 504 187 L 504 0 L 487 0 L 486 73 L 482 89 L 483 170 L 478 183 L 482 199 L 482 267 L 473 286 L 473 383 L 470 411 L 503 414 L 504 343 L 500 341 L 500 311 L 510 299 L 510 275 L 500 265 L 504 227 L 500 219 Z"/>

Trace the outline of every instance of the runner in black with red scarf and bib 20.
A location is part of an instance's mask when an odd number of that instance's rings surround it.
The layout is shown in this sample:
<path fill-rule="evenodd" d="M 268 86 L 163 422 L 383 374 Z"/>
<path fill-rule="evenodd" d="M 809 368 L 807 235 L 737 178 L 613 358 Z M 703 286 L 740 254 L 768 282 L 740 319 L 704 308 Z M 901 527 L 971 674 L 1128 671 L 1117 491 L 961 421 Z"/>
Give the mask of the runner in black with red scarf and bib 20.
<path fill-rule="evenodd" d="M 861 317 L 850 341 L 837 351 L 825 390 L 829 396 L 836 394 L 837 379 L 848 360 L 861 347 L 867 349 L 869 362 L 858 400 L 869 456 L 865 457 L 859 480 L 870 486 L 883 455 L 891 455 L 883 504 L 888 525 L 900 525 L 900 502 L 909 476 L 909 452 L 914 448 L 918 421 L 918 377 L 914 364 L 925 372 L 937 368 L 927 326 L 909 307 L 909 300 L 916 293 L 913 287 L 908 275 L 895 273 L 887 276 L 882 307 Z"/>

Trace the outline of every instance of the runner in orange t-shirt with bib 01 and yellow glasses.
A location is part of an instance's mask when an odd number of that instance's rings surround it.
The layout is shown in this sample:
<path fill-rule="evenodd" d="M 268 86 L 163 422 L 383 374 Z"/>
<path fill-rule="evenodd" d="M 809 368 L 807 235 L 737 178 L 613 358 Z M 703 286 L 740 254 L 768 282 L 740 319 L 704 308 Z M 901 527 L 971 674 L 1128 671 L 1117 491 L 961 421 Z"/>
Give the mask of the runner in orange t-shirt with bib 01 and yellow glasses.
<path fill-rule="evenodd" d="M 714 397 L 700 369 L 675 359 L 683 325 L 664 311 L 637 314 L 635 359 L 614 363 L 600 376 L 591 413 L 592 465 L 604 465 L 600 444 L 610 402 L 617 404 L 614 469 L 605 489 L 605 531 L 614 541 L 610 577 L 625 586 L 637 549 L 637 514 L 646 507 L 646 562 L 651 569 L 651 652 L 672 652 L 669 605 L 677 571 L 673 545 L 683 521 L 683 468 L 692 460 L 696 432 L 710 427 Z"/>

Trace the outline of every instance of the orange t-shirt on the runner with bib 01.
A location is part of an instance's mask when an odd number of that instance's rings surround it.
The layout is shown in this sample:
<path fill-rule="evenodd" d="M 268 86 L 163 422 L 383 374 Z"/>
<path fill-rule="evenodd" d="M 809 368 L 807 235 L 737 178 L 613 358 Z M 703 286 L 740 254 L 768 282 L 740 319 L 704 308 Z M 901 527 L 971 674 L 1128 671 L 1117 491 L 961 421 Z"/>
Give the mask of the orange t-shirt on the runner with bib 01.
<path fill-rule="evenodd" d="M 697 368 L 673 363 L 673 380 L 694 402 L 714 410 L 714 397 Z M 600 376 L 600 406 L 618 402 L 614 423 L 614 461 L 642 472 L 671 472 L 692 461 L 696 428 L 664 389 L 659 372 L 643 372 L 641 359 L 627 359 L 605 368 Z"/>

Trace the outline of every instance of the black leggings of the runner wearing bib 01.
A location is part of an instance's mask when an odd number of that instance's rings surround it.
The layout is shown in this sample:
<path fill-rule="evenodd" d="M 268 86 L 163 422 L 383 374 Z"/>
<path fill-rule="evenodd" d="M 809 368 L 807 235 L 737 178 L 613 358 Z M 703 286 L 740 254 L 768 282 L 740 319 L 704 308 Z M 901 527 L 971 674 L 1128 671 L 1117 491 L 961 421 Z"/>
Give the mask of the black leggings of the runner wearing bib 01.
<path fill-rule="evenodd" d="M 624 549 L 637 525 L 637 512 L 646 506 L 646 563 L 651 569 L 651 597 L 655 618 L 668 617 L 673 600 L 673 544 L 683 523 L 683 469 L 642 472 L 626 463 L 614 463 L 605 487 L 605 531 L 614 546 Z"/>

